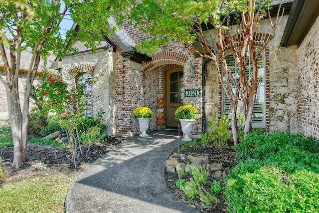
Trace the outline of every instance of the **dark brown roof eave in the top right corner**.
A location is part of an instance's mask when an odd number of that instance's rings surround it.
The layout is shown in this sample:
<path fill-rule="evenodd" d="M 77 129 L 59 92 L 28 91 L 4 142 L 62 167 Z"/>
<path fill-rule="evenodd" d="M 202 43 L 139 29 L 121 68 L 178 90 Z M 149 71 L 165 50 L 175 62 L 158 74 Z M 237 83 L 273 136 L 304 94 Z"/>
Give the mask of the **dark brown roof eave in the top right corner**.
<path fill-rule="evenodd" d="M 319 0 L 294 0 L 282 46 L 300 45 L 319 15 Z"/>

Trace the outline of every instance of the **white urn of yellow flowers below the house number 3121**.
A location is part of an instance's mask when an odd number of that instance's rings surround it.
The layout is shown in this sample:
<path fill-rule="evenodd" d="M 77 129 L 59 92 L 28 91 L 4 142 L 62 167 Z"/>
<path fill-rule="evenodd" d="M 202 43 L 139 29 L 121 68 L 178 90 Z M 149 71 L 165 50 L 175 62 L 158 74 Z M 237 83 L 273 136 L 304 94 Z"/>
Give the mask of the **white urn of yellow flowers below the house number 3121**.
<path fill-rule="evenodd" d="M 180 106 L 175 111 L 176 119 L 180 121 L 181 131 L 185 134 L 183 141 L 191 141 L 189 133 L 193 129 L 193 122 L 197 118 L 198 110 L 196 107 L 186 104 Z"/>

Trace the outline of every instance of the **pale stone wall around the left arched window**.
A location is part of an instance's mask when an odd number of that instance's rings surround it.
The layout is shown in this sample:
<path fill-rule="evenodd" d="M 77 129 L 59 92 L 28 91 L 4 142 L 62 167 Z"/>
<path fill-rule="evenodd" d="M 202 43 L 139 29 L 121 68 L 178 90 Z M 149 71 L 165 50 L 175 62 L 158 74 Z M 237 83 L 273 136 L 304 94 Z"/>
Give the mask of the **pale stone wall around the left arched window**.
<path fill-rule="evenodd" d="M 93 72 L 93 117 L 100 110 L 105 112 L 107 134 L 116 134 L 116 102 L 115 102 L 115 53 L 104 50 L 94 53 L 68 56 L 62 60 L 62 79 L 73 85 L 73 77 L 69 74 L 71 69 L 83 72 Z M 81 68 L 82 67 L 82 68 Z"/>

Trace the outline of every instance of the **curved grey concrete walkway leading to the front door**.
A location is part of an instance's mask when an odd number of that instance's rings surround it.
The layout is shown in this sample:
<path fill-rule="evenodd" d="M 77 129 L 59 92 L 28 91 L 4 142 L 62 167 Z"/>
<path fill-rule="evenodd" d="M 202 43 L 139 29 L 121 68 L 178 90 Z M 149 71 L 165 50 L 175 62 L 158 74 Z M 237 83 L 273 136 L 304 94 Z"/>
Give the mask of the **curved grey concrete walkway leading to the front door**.
<path fill-rule="evenodd" d="M 66 213 L 198 213 L 167 189 L 164 164 L 177 131 L 127 138 L 87 167 L 71 185 Z"/>

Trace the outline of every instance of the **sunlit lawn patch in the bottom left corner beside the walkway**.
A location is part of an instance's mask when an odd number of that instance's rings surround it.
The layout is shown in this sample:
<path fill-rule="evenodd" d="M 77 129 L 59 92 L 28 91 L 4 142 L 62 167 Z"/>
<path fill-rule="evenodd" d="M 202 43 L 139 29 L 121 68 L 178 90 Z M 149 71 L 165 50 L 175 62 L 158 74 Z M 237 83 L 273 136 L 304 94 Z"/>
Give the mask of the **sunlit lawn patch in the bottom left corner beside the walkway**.
<path fill-rule="evenodd" d="M 0 213 L 63 213 L 74 181 L 66 175 L 32 178 L 0 188 Z"/>

